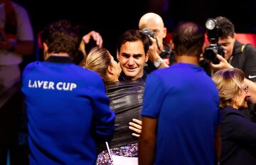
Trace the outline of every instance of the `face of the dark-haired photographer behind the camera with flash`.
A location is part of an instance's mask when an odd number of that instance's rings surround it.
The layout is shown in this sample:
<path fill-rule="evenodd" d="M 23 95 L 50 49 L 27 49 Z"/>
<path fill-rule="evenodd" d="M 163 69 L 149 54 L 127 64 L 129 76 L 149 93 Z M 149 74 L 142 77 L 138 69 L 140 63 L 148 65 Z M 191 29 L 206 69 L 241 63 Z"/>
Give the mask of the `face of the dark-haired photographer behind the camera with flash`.
<path fill-rule="evenodd" d="M 235 38 L 231 38 L 228 36 L 228 38 L 219 38 L 218 44 L 223 47 L 225 52 L 225 59 L 229 59 L 229 57 L 233 53 Z"/>

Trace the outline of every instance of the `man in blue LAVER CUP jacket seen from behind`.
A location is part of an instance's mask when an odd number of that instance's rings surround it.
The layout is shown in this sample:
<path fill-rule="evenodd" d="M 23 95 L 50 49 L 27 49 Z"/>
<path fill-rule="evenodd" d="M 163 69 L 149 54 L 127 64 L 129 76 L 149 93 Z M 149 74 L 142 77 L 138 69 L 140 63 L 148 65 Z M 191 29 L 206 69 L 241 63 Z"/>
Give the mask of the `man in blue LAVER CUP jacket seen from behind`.
<path fill-rule="evenodd" d="M 110 141 L 114 112 L 99 74 L 73 64 L 82 38 L 68 21 L 41 34 L 45 62 L 24 69 L 30 164 L 95 164 L 96 142 Z"/>

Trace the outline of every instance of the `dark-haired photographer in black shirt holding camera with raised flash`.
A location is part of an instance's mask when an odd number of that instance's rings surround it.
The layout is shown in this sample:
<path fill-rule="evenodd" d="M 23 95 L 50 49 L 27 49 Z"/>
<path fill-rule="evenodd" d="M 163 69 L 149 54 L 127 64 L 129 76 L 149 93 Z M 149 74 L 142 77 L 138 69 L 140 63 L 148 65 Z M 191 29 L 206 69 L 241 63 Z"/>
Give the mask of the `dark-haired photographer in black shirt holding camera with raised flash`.
<path fill-rule="evenodd" d="M 250 101 L 255 103 L 256 85 L 250 81 L 256 81 L 256 49 L 250 44 L 242 44 L 235 39 L 235 28 L 228 18 L 219 16 L 215 18 L 218 23 L 218 45 L 223 47 L 225 59 L 217 56 L 220 64 L 211 63 L 210 66 L 215 69 L 224 69 L 227 67 L 235 67 L 245 72 L 246 81 L 250 83 L 251 97 Z M 226 61 L 226 62 L 225 62 Z M 248 84 L 249 85 L 249 84 Z M 256 120 L 254 105 L 250 105 L 251 120 Z"/>

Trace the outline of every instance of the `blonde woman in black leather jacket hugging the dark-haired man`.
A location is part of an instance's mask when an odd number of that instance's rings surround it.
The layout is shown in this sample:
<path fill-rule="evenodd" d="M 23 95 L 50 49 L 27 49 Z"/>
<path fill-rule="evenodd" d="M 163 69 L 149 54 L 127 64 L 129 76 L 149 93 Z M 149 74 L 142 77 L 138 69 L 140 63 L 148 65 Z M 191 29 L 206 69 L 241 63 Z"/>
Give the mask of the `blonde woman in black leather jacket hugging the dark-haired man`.
<path fill-rule="evenodd" d="M 142 130 L 142 121 L 138 119 L 142 110 L 144 81 L 119 82 L 119 64 L 105 48 L 92 48 L 82 67 L 102 76 L 110 98 L 110 108 L 116 113 L 114 137 L 109 143 L 110 152 L 118 156 L 137 157 L 137 138 Z M 105 143 L 98 145 L 98 152 L 97 164 L 112 164 Z"/>

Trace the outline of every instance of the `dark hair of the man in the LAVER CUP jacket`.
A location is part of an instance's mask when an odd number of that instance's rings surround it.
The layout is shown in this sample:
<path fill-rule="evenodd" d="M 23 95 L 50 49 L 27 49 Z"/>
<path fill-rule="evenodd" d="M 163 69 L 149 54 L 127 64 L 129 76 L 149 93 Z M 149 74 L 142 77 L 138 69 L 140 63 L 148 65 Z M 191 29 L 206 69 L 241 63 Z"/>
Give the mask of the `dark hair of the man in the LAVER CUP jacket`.
<path fill-rule="evenodd" d="M 49 53 L 65 52 L 70 57 L 77 55 L 81 40 L 78 28 L 67 20 L 50 23 L 41 33 L 41 42 L 46 42 Z"/>

